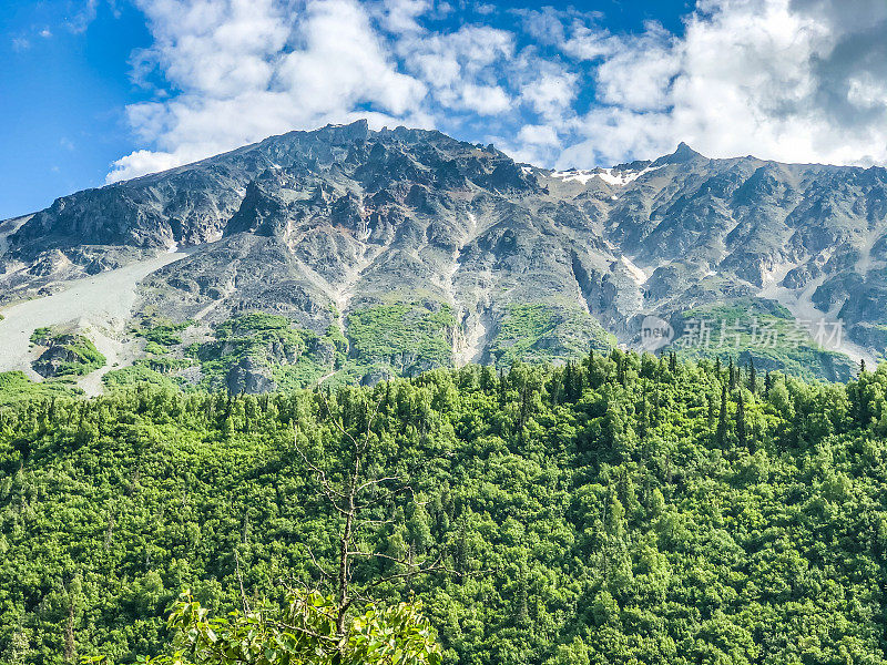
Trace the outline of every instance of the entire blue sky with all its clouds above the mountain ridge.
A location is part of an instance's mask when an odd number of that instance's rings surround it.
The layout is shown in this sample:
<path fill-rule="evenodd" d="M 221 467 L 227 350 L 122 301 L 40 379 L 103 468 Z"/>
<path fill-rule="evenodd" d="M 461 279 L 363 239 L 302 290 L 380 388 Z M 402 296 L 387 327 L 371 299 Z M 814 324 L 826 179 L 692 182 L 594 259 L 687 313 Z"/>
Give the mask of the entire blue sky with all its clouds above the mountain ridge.
<path fill-rule="evenodd" d="M 7 0 L 0 218 L 369 116 L 546 166 L 883 164 L 887 3 Z"/>

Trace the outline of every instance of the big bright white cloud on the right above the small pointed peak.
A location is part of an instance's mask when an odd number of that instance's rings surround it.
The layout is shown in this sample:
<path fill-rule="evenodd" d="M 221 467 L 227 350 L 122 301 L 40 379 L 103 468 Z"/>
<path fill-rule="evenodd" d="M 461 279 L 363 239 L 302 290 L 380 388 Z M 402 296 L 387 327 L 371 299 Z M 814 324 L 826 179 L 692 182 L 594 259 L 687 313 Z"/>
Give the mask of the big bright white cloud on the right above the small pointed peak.
<path fill-rule="evenodd" d="M 804 7 L 813 4 L 816 11 Z M 679 141 L 716 157 L 887 162 L 883 78 L 864 71 L 840 79 L 846 88 L 837 98 L 853 108 L 845 117 L 825 103 L 835 91 L 823 92 L 822 63 L 853 35 L 826 20 L 824 8 L 832 6 L 706 0 L 682 39 L 656 25 L 629 38 L 577 31 L 567 43 L 575 55 L 599 60 L 597 91 L 604 106 L 584 115 L 580 142 L 559 162 L 655 156 Z M 845 122 L 860 110 L 867 112 L 863 122 Z"/>

